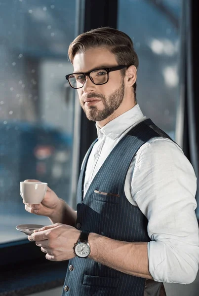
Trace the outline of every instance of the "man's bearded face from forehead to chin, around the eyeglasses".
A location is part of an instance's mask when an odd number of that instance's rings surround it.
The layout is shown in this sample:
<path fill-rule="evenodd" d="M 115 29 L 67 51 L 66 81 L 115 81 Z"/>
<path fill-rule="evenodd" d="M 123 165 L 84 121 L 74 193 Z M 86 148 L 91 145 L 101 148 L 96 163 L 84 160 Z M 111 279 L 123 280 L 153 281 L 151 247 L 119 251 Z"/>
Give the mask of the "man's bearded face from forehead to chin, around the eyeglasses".
<path fill-rule="evenodd" d="M 118 62 L 113 53 L 100 47 L 77 53 L 73 66 L 74 72 L 77 73 L 118 66 Z M 102 85 L 94 84 L 86 76 L 85 84 L 78 89 L 78 94 L 80 105 L 89 120 L 102 121 L 108 118 L 119 108 L 124 97 L 124 81 L 121 72 L 110 72 L 109 81 Z M 91 101 L 88 101 L 89 99 Z"/>

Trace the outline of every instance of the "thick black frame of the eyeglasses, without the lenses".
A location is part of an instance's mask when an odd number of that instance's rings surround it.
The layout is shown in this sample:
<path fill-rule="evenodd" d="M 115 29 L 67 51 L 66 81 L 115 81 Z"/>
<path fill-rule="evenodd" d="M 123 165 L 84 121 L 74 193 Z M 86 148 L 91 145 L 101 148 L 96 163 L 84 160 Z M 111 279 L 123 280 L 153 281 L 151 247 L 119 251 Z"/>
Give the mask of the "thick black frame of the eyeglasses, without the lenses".
<path fill-rule="evenodd" d="M 109 81 L 109 73 L 110 72 L 113 72 L 113 71 L 118 71 L 118 70 L 121 70 L 123 68 L 128 68 L 128 66 L 126 65 L 118 65 L 118 66 L 115 66 L 115 67 L 110 67 L 110 68 L 97 68 L 97 69 L 93 69 L 91 71 L 88 71 L 88 72 L 77 72 L 77 73 L 71 73 L 71 74 L 68 74 L 66 75 L 66 80 L 69 82 L 70 86 L 72 88 L 75 88 L 75 89 L 79 89 L 79 88 L 82 88 L 85 84 L 85 81 L 86 81 L 86 76 L 88 76 L 90 78 L 90 80 L 92 81 L 92 83 L 94 83 L 95 85 L 103 85 L 103 84 L 106 84 L 108 81 Z M 97 70 L 105 70 L 107 72 L 107 81 L 104 82 L 104 83 L 95 83 L 92 79 L 92 77 L 90 76 L 90 73 L 91 72 L 94 72 L 94 71 L 97 71 Z M 74 74 L 83 74 L 84 75 L 84 84 L 81 86 L 81 87 L 74 87 L 71 85 L 70 81 L 69 81 L 69 77 L 70 75 L 74 75 Z"/>

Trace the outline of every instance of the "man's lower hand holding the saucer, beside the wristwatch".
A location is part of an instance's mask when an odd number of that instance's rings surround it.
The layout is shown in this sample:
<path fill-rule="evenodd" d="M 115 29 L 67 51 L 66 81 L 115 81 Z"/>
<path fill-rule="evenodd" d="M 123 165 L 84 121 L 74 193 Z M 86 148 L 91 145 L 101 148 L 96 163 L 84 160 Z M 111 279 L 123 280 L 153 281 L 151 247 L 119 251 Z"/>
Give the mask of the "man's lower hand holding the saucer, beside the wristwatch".
<path fill-rule="evenodd" d="M 74 245 L 80 237 L 80 230 L 73 226 L 56 223 L 44 226 L 28 236 L 30 241 L 46 253 L 45 258 L 50 261 L 63 261 L 74 258 Z"/>

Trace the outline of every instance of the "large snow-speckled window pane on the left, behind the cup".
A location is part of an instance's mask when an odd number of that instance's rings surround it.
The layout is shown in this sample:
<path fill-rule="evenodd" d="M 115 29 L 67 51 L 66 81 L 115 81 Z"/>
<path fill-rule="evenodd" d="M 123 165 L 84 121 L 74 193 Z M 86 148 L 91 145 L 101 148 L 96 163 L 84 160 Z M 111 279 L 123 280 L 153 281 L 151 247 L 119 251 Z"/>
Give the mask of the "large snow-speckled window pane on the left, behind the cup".
<path fill-rule="evenodd" d="M 75 3 L 0 1 L 0 243 L 26 238 L 18 224 L 50 224 L 25 211 L 20 181 L 47 182 L 70 203 Z"/>

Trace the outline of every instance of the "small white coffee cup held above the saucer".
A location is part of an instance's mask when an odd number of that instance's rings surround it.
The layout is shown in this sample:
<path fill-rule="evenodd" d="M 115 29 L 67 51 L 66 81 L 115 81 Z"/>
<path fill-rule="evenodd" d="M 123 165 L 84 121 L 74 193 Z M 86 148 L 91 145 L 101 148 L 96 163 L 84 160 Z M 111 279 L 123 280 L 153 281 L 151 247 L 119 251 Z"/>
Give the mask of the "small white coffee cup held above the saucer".
<path fill-rule="evenodd" d="M 26 203 L 39 204 L 46 193 L 47 183 L 43 182 L 20 182 L 21 197 Z"/>

